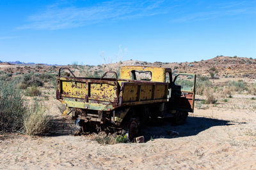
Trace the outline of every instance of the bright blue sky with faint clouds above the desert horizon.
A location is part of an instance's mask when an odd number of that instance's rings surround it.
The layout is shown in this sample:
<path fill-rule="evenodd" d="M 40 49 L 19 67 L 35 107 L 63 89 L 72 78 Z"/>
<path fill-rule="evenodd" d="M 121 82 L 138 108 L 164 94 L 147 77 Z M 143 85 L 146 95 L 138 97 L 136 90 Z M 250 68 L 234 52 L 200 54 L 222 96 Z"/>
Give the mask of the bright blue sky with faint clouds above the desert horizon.
<path fill-rule="evenodd" d="M 256 1 L 0 1 L 0 60 L 256 57 Z M 105 61 L 105 60 L 106 61 Z"/>

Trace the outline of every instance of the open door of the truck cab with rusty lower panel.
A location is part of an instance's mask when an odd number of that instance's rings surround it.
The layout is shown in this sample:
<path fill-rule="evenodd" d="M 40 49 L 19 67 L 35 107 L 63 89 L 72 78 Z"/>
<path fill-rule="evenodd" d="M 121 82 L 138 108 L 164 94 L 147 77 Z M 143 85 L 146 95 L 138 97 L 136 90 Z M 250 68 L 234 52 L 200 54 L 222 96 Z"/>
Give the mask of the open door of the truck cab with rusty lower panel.
<path fill-rule="evenodd" d="M 173 79 L 170 106 L 173 110 L 194 111 L 195 74 L 177 74 Z"/>

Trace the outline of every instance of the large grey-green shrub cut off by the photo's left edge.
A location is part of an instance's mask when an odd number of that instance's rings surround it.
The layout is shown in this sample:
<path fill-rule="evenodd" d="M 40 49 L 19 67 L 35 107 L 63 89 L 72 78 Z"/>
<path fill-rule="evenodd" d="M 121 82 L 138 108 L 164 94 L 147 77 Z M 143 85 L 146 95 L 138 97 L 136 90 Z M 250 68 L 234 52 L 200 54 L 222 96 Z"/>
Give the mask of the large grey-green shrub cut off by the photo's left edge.
<path fill-rule="evenodd" d="M 22 131 L 23 116 L 26 113 L 24 99 L 15 83 L 0 81 L 0 131 Z"/>

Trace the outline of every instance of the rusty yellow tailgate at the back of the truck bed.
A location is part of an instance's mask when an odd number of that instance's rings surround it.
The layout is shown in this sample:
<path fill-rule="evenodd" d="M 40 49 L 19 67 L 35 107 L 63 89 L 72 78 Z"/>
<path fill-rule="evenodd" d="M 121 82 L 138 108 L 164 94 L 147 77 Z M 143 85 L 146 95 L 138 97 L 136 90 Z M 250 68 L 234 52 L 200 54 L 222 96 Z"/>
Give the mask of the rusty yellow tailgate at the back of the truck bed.
<path fill-rule="evenodd" d="M 116 81 L 88 78 L 58 78 L 57 99 L 70 108 L 113 110 L 118 104 Z"/>

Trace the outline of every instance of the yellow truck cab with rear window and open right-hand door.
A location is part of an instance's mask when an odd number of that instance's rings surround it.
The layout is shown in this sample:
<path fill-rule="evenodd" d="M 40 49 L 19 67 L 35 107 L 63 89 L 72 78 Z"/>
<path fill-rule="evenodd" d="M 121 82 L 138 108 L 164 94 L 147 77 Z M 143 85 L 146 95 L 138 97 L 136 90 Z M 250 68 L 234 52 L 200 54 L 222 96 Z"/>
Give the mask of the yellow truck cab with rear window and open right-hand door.
<path fill-rule="evenodd" d="M 195 101 L 195 74 L 180 73 L 173 77 L 172 69 L 154 66 L 122 66 L 121 79 L 168 83 L 168 101 L 172 112 L 193 112 Z"/>

